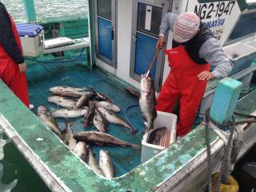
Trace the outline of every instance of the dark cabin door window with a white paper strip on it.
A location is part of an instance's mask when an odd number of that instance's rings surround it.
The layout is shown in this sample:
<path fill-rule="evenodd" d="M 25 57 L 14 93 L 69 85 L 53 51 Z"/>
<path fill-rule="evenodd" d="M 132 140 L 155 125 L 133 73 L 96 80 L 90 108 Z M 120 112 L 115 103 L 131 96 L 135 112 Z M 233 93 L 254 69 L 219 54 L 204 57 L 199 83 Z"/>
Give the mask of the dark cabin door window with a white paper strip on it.
<path fill-rule="evenodd" d="M 152 17 L 154 15 L 154 17 Z M 162 20 L 162 8 L 138 3 L 138 30 L 158 36 Z"/>

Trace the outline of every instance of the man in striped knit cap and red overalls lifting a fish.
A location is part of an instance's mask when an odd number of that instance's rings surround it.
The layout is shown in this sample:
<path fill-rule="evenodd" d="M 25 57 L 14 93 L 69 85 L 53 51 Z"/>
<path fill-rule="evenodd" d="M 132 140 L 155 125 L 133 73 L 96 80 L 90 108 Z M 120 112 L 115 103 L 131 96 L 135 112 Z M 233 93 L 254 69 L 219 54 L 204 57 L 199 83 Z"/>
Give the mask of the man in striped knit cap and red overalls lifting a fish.
<path fill-rule="evenodd" d="M 163 46 L 167 30 L 173 30 L 174 38 L 173 48 L 165 51 L 171 70 L 162 86 L 156 109 L 172 113 L 180 102 L 177 127 L 180 138 L 193 126 L 207 81 L 226 77 L 233 65 L 196 14 L 166 14 L 160 26 L 157 48 Z M 210 65 L 214 68 L 212 72 Z"/>

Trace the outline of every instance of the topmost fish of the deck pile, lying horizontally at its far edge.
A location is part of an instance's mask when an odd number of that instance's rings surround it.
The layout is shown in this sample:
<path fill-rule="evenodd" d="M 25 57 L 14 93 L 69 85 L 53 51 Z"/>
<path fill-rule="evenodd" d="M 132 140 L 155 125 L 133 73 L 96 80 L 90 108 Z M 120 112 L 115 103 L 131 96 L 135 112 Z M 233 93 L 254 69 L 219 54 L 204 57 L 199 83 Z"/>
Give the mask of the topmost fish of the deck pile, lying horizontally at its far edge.
<path fill-rule="evenodd" d="M 88 88 L 74 88 L 68 86 L 54 86 L 50 88 L 50 92 L 54 95 L 67 98 L 81 98 L 84 94 L 90 94 L 91 89 Z"/>

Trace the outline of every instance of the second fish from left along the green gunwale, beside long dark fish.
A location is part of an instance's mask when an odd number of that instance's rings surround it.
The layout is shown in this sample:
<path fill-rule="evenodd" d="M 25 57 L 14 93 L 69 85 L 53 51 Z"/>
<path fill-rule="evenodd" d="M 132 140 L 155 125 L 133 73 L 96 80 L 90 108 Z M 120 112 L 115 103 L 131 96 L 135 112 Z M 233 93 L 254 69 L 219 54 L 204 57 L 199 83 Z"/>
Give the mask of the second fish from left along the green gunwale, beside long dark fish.
<path fill-rule="evenodd" d="M 77 146 L 77 141 L 73 138 L 73 130 L 71 128 L 72 122 L 65 122 L 66 129 L 63 130 L 62 133 L 62 141 L 70 148 L 70 150 L 74 150 Z"/>

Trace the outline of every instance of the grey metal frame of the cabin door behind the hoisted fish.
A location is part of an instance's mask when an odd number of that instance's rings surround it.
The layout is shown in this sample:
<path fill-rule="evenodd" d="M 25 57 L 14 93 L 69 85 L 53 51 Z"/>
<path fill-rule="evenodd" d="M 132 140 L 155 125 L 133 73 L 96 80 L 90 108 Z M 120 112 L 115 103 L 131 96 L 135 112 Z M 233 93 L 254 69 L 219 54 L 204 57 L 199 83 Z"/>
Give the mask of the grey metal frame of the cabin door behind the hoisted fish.
<path fill-rule="evenodd" d="M 137 30 L 137 20 L 138 20 L 138 3 L 142 2 L 145 3 L 147 5 L 150 6 L 157 6 L 157 7 L 161 7 L 162 8 L 162 18 L 165 16 L 165 14 L 167 13 L 168 10 L 170 10 L 170 4 L 171 4 L 171 0 L 162 0 L 162 1 L 155 1 L 154 3 L 152 2 L 148 2 L 147 0 L 134 0 L 134 4 L 133 4 L 133 18 L 132 18 L 132 34 L 131 34 L 131 44 L 130 44 L 130 78 L 134 78 L 136 81 L 140 82 L 141 80 L 141 76 L 138 74 L 134 73 L 134 68 L 135 68 L 135 52 L 136 52 L 136 34 L 141 33 L 141 34 L 146 34 L 143 33 L 142 31 L 138 31 Z M 159 21 L 161 22 L 161 21 Z M 147 36 L 150 36 L 151 38 L 155 38 L 158 39 L 156 37 L 154 37 L 153 35 L 150 34 L 146 34 Z M 152 55 L 152 58 L 154 57 L 154 55 Z M 160 90 L 161 86 L 162 86 L 162 74 L 163 74 L 163 70 L 164 70 L 164 61 L 165 57 L 163 52 L 161 51 L 160 54 L 158 54 L 158 58 L 157 58 L 157 63 L 158 66 L 156 67 L 156 71 L 155 71 L 155 81 L 154 81 L 154 85 L 155 85 L 155 89 L 156 90 Z M 150 63 L 149 63 L 150 65 Z"/>

